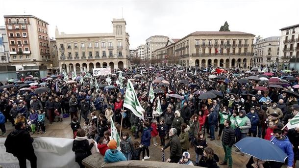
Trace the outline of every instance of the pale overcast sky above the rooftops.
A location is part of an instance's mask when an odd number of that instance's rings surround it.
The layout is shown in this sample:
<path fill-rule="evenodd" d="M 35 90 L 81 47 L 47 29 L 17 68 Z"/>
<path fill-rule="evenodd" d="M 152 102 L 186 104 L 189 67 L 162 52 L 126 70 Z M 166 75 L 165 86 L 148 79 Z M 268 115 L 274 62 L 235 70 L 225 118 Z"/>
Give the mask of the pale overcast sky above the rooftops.
<path fill-rule="evenodd" d="M 123 12 L 122 12 L 123 8 Z M 112 32 L 112 18 L 125 18 L 130 48 L 151 35 L 182 38 L 194 31 L 231 31 L 263 38 L 299 24 L 299 0 L 0 0 L 3 15 L 34 15 L 65 33 Z"/>

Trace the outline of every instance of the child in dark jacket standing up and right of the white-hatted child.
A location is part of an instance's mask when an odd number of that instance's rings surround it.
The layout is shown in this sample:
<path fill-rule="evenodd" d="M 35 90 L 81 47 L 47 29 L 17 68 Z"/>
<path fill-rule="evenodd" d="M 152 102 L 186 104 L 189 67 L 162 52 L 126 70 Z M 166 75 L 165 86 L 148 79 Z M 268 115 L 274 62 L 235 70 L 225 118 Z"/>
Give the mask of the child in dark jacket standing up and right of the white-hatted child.
<path fill-rule="evenodd" d="M 198 136 L 192 140 L 191 144 L 195 148 L 195 153 L 196 153 L 195 163 L 199 164 L 199 159 L 202 156 L 203 149 L 208 146 L 202 131 L 199 131 Z"/>

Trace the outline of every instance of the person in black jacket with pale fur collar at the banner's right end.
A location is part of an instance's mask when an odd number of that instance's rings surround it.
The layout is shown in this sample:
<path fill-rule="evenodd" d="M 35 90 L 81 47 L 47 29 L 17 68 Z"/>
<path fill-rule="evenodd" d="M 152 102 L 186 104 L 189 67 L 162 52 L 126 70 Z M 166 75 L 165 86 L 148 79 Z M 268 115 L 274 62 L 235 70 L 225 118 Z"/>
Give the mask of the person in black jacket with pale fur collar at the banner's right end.
<path fill-rule="evenodd" d="M 82 165 L 82 160 L 91 155 L 91 148 L 94 146 L 94 141 L 89 144 L 85 131 L 78 130 L 75 140 L 73 141 L 72 150 L 75 152 L 75 161 L 79 164 L 80 168 L 85 168 Z"/>

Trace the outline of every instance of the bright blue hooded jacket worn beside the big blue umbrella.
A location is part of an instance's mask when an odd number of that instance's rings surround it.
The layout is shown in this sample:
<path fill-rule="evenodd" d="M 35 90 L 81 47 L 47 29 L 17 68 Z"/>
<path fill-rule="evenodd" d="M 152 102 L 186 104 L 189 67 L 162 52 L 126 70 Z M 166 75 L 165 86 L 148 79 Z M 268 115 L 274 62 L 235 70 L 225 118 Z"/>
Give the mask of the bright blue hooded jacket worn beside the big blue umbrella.
<path fill-rule="evenodd" d="M 278 140 L 275 136 L 271 137 L 271 141 L 274 145 L 278 146 L 284 153 L 288 155 L 288 166 L 293 166 L 294 152 L 293 146 L 287 136 L 281 135 L 282 139 Z"/>

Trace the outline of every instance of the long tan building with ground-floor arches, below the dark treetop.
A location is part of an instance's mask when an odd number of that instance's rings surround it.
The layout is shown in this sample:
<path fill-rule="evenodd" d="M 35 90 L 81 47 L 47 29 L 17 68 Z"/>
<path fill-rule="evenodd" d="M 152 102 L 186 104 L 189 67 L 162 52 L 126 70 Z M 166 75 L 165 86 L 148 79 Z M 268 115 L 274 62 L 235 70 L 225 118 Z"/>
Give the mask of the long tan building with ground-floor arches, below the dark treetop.
<path fill-rule="evenodd" d="M 249 69 L 254 36 L 239 31 L 196 31 L 155 52 L 161 61 L 181 66 Z"/>

